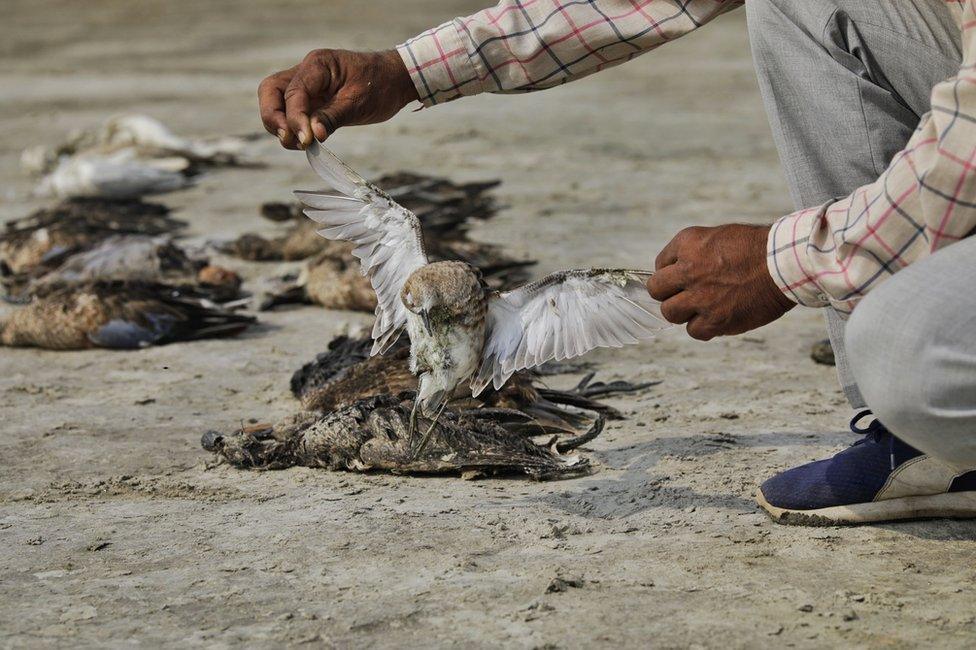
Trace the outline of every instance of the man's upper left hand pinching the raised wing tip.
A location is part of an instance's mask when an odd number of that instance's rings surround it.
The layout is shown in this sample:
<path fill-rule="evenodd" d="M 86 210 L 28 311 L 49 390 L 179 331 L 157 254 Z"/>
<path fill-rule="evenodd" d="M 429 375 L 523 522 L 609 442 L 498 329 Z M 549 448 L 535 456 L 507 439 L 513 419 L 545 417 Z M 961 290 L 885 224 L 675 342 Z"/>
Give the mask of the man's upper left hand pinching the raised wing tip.
<path fill-rule="evenodd" d="M 384 122 L 416 100 L 395 50 L 313 50 L 258 87 L 264 128 L 288 149 L 325 140 L 341 126 Z"/>

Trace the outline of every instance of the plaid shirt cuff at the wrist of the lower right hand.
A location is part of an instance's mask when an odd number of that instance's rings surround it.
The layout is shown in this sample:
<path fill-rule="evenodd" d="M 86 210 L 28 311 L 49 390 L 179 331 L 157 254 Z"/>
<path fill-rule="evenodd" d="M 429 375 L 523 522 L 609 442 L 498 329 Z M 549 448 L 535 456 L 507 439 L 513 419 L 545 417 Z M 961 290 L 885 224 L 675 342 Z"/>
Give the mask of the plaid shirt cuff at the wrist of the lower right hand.
<path fill-rule="evenodd" d="M 810 233 L 818 227 L 830 203 L 786 215 L 769 229 L 766 240 L 766 264 L 773 281 L 787 298 L 806 307 L 830 304 L 807 253 Z"/>

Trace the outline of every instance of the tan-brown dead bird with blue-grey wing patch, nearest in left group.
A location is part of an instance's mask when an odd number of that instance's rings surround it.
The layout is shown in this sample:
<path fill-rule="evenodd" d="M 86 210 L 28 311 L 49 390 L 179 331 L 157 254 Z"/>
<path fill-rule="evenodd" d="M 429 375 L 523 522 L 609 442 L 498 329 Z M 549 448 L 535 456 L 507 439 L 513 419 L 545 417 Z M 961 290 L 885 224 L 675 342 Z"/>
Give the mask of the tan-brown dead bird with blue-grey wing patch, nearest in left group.
<path fill-rule="evenodd" d="M 206 295 L 148 282 L 98 281 L 52 290 L 0 321 L 0 344 L 48 350 L 136 349 L 234 336 L 255 322 Z"/>

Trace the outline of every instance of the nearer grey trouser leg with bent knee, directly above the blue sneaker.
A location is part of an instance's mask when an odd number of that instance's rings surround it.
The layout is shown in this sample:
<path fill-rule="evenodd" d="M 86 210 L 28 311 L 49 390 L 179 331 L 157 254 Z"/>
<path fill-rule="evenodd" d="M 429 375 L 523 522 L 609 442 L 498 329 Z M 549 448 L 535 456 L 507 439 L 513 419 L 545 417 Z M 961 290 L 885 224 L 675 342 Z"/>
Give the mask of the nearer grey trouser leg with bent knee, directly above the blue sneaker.
<path fill-rule="evenodd" d="M 847 323 L 857 385 L 919 451 L 976 467 L 976 237 L 899 271 Z"/>

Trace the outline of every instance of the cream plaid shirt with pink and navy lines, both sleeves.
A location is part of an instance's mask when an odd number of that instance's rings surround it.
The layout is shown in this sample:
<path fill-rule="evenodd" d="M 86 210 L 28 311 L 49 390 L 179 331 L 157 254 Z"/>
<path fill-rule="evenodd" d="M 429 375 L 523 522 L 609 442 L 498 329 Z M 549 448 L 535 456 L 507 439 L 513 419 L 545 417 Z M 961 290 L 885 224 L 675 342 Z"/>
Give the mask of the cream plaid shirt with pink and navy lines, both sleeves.
<path fill-rule="evenodd" d="M 879 282 L 976 228 L 976 0 L 964 62 L 876 182 L 777 221 L 768 266 L 796 302 L 849 312 Z M 425 106 L 527 92 L 598 72 L 687 34 L 741 0 L 502 0 L 399 46 Z"/>

